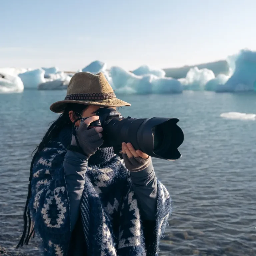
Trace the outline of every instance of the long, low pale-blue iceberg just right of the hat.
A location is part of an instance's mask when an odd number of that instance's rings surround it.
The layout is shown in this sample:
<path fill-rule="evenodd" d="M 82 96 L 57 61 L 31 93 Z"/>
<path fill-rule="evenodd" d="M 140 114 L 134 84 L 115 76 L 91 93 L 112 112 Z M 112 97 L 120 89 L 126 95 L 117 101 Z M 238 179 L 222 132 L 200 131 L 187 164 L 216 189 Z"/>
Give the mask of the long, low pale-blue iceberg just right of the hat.
<path fill-rule="evenodd" d="M 181 93 L 182 85 L 173 78 L 159 78 L 155 75 L 137 76 L 120 67 L 111 67 L 110 76 L 117 93 Z"/>

